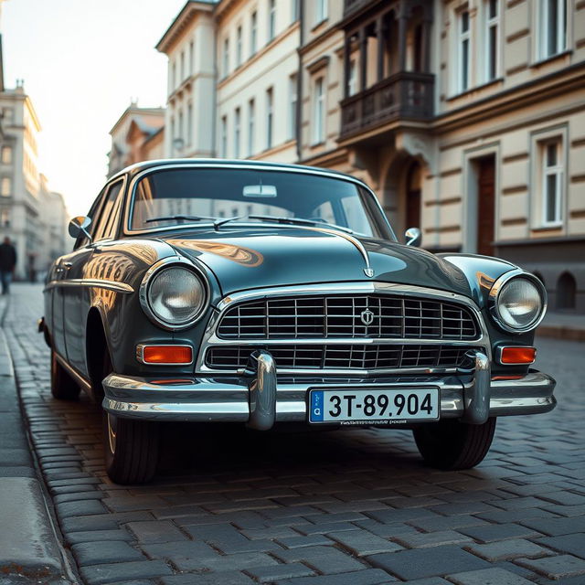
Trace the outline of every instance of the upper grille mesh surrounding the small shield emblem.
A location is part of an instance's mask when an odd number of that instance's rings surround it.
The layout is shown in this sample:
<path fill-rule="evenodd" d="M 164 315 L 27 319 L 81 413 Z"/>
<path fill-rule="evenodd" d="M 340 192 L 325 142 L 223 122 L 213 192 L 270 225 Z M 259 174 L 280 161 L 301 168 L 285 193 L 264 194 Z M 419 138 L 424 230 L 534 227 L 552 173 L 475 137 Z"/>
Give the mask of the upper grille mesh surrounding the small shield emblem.
<path fill-rule="evenodd" d="M 364 312 L 373 314 L 364 324 Z M 392 295 L 303 296 L 240 303 L 218 324 L 223 339 L 335 337 L 475 339 L 467 308 L 445 301 Z"/>

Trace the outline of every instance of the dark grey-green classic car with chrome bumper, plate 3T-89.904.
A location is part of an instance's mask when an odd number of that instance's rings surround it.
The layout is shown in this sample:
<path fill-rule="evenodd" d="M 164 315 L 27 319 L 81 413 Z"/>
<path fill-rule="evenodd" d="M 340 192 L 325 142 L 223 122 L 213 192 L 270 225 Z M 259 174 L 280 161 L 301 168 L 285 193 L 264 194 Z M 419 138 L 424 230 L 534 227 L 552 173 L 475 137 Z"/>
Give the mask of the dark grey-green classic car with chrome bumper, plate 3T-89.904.
<path fill-rule="evenodd" d="M 55 261 L 51 390 L 103 408 L 107 473 L 153 477 L 165 421 L 411 429 L 465 469 L 500 416 L 552 410 L 530 366 L 546 291 L 507 262 L 399 243 L 353 176 L 229 160 L 130 166 Z"/>

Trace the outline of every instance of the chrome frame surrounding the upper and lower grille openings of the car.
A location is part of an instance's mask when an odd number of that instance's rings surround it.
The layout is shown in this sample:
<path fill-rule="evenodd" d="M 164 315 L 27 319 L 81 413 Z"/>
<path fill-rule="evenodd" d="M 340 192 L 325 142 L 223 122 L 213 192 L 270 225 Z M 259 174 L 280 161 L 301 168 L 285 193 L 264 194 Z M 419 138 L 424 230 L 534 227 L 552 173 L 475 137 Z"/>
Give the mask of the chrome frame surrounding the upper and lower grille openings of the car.
<path fill-rule="evenodd" d="M 221 320 L 223 314 L 233 307 L 236 303 L 244 303 L 253 300 L 264 299 L 267 297 L 278 298 L 278 297 L 285 297 L 285 296 L 303 296 L 303 295 L 319 295 L 319 294 L 363 294 L 363 293 L 380 293 L 380 294 L 392 294 L 392 295 L 399 295 L 399 296 L 418 296 L 423 298 L 430 298 L 430 299 L 441 299 L 441 300 L 450 300 L 455 303 L 461 303 L 466 308 L 468 308 L 475 317 L 478 325 L 479 325 L 479 335 L 474 339 L 466 339 L 466 340 L 441 340 L 441 339 L 397 339 L 397 338 L 382 338 L 382 339 L 374 339 L 374 338 L 322 338 L 322 337 L 314 337 L 310 339 L 246 339 L 246 340 L 234 340 L 234 339 L 222 339 L 218 337 L 216 333 L 216 329 L 218 326 L 219 321 Z M 331 343 L 333 342 L 333 343 Z M 239 293 L 233 293 L 229 296 L 224 297 L 219 301 L 217 305 L 217 311 L 212 314 L 211 318 L 209 319 L 209 323 L 207 324 L 207 329 L 205 335 L 201 340 L 201 345 L 199 346 L 199 353 L 197 354 L 196 360 L 196 369 L 195 371 L 201 374 L 208 375 L 210 373 L 217 373 L 217 374 L 229 374 L 236 373 L 235 370 L 226 370 L 226 369 L 212 369 L 207 367 L 205 363 L 205 354 L 207 352 L 207 348 L 211 346 L 262 346 L 267 348 L 270 351 L 271 346 L 279 346 L 285 344 L 294 344 L 294 345 L 335 345 L 335 344 L 345 344 L 345 345 L 352 345 L 352 344 L 359 344 L 359 345 L 383 345 L 383 344 L 394 344 L 394 345 L 448 345 L 448 346 L 477 346 L 481 347 L 484 350 L 484 354 L 488 357 L 488 359 L 492 359 L 492 347 L 490 343 L 490 338 L 487 333 L 487 329 L 485 327 L 484 319 L 482 314 L 478 308 L 478 306 L 473 303 L 472 299 L 463 296 L 462 294 L 457 293 L 449 293 L 447 291 L 438 291 L 436 289 L 430 289 L 427 287 L 421 286 L 414 286 L 411 284 L 396 284 L 392 282 L 335 282 L 335 283 L 328 283 L 328 284 L 309 284 L 309 285 L 295 285 L 295 286 L 281 286 L 281 287 L 271 287 L 271 288 L 264 288 L 264 289 L 253 289 L 249 291 L 241 291 Z M 392 374 L 392 373 L 445 373 L 447 371 L 455 371 L 455 370 L 445 370 L 444 368 L 410 368 L 410 369 L 399 369 L 399 370 L 376 370 L 375 372 L 367 372 L 366 370 L 325 370 L 325 369 L 311 369 L 311 370 L 282 370 L 278 368 L 277 364 L 277 371 L 279 374 L 315 374 L 317 372 L 322 373 L 324 375 L 342 375 L 342 376 L 351 376 L 351 375 L 364 375 L 367 373 L 369 374 Z"/>

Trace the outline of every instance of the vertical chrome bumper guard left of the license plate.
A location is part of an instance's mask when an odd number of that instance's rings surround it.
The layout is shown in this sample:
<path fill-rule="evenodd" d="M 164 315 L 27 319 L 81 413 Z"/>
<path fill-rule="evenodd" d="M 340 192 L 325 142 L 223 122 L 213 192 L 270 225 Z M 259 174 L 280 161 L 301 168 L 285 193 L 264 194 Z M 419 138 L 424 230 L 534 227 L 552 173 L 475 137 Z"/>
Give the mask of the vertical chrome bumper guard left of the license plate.
<path fill-rule="evenodd" d="M 267 351 L 255 351 L 250 356 L 250 420 L 248 426 L 256 431 L 268 431 L 276 419 L 276 365 Z"/>

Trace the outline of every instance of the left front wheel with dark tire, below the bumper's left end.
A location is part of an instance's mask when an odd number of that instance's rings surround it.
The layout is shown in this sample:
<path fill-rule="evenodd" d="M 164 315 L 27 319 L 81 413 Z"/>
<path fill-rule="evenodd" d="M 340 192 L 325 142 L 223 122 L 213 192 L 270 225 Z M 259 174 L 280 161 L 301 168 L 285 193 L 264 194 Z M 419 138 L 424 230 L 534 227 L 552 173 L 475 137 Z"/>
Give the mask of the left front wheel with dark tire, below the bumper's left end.
<path fill-rule="evenodd" d="M 160 433 L 150 420 L 122 419 L 103 413 L 106 472 L 116 484 L 145 484 L 156 472 Z"/>

